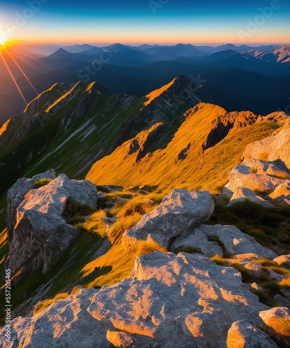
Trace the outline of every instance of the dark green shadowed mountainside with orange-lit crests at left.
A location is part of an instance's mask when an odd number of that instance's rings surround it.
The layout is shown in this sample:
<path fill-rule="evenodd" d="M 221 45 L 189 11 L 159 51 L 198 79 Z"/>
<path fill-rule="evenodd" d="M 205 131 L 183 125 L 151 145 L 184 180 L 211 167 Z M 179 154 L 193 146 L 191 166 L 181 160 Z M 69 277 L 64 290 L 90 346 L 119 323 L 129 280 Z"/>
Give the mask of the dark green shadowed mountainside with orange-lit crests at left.
<path fill-rule="evenodd" d="M 0 194 L 21 175 L 49 168 L 84 177 L 97 159 L 156 122 L 163 123 L 162 132 L 150 145 L 165 146 L 183 113 L 200 101 L 197 88 L 183 76 L 149 97 L 108 95 L 97 83 L 54 84 L 1 130 Z"/>

